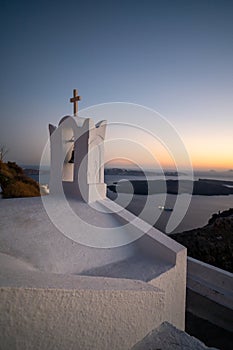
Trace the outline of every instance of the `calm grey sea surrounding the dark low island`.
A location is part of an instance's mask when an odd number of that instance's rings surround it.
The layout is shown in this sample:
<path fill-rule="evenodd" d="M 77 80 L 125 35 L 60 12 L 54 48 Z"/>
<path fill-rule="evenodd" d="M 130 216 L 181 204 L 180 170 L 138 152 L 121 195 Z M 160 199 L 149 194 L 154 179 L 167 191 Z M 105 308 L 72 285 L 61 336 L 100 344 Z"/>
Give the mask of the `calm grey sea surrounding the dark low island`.
<path fill-rule="evenodd" d="M 38 169 L 38 166 L 24 166 L 24 168 L 33 168 Z M 41 169 L 40 179 L 38 175 L 30 175 L 36 181 L 40 181 L 42 185 L 49 184 L 49 167 L 44 167 Z M 158 180 L 161 176 L 158 174 L 150 174 L 147 176 L 148 180 Z M 185 179 L 184 177 L 182 177 Z M 194 179 L 198 180 L 199 178 L 213 179 L 213 180 L 222 180 L 222 181 L 233 181 L 233 171 L 197 171 L 194 173 Z M 177 179 L 177 176 L 169 176 L 167 179 Z M 107 185 L 113 184 L 121 180 L 145 180 L 144 176 L 127 176 L 127 175 L 105 175 L 105 183 Z M 110 191 L 108 191 L 110 192 Z M 110 193 L 110 198 L 114 199 L 114 195 Z M 188 194 L 179 194 L 180 199 L 187 202 Z M 166 194 L 166 206 L 173 206 L 177 199 L 176 195 Z M 190 204 L 185 209 L 185 215 L 182 214 L 183 218 L 180 220 L 179 224 L 172 229 L 171 233 L 184 232 L 192 230 L 194 228 L 203 227 L 208 223 L 208 220 L 212 217 L 214 213 L 219 213 L 229 208 L 233 208 L 233 195 L 228 196 L 191 196 Z M 145 208 L 145 202 L 147 196 L 143 195 L 134 195 L 133 198 L 128 194 L 120 194 L 118 202 L 125 207 L 128 205 L 128 209 L 134 212 L 135 214 L 140 213 L 143 208 Z M 149 206 L 146 207 L 146 214 L 140 214 L 140 216 L 154 224 L 159 230 L 166 232 L 167 224 L 172 215 L 171 212 L 161 212 L 159 208 L 164 202 L 164 195 L 153 194 L 150 195 Z M 125 204 L 126 203 L 126 204 Z M 184 212 L 184 210 L 183 210 Z M 155 220 L 156 218 L 156 220 Z M 155 222 L 154 222 L 155 221 Z"/>

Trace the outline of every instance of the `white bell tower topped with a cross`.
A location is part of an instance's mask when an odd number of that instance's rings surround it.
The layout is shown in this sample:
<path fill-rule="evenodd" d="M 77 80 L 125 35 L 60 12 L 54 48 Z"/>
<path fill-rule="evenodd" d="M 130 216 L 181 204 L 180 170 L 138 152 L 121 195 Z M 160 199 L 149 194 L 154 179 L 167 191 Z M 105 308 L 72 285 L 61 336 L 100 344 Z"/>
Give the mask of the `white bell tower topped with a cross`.
<path fill-rule="evenodd" d="M 80 97 L 74 93 L 73 99 L 79 100 Z M 76 107 L 74 115 L 75 112 L 77 113 Z M 51 194 L 65 193 L 88 203 L 106 197 L 104 183 L 106 125 L 104 120 L 94 124 L 91 118 L 79 116 L 63 117 L 58 127 L 49 125 Z"/>

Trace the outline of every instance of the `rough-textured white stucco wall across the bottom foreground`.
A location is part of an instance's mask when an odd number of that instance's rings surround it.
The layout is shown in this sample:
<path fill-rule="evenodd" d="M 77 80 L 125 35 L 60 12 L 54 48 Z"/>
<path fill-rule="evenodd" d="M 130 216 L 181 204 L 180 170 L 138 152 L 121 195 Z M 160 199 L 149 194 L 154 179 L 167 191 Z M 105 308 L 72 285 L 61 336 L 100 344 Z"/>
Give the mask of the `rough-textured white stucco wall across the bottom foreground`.
<path fill-rule="evenodd" d="M 164 321 L 164 293 L 151 285 L 76 278 L 75 290 L 2 287 L 0 348 L 123 350 Z"/>

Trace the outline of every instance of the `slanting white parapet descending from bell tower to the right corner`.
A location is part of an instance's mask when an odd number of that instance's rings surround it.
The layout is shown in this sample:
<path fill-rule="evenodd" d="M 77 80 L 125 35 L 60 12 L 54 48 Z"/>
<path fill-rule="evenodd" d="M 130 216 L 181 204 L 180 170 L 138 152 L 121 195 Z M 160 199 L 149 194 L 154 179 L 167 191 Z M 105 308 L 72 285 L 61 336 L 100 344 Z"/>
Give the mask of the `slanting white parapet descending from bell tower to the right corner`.
<path fill-rule="evenodd" d="M 112 212 L 116 212 L 116 215 L 121 217 L 124 222 L 130 222 L 134 230 L 142 232 L 137 240 L 141 253 L 150 258 L 158 259 L 164 264 L 170 264 L 170 268 L 166 272 L 161 273 L 156 278 L 151 277 L 148 282 L 165 292 L 164 314 L 166 321 L 184 330 L 187 249 L 116 203 L 107 199 L 101 204 Z"/>

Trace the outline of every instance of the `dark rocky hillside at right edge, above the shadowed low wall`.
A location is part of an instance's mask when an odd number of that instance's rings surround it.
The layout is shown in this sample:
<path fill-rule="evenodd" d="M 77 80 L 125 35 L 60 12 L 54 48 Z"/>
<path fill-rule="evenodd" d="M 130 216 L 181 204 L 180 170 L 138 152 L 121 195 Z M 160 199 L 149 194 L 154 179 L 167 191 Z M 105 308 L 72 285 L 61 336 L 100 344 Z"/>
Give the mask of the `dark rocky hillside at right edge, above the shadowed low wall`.
<path fill-rule="evenodd" d="M 192 258 L 233 272 L 233 209 L 214 214 L 202 228 L 171 238 L 187 247 Z"/>

